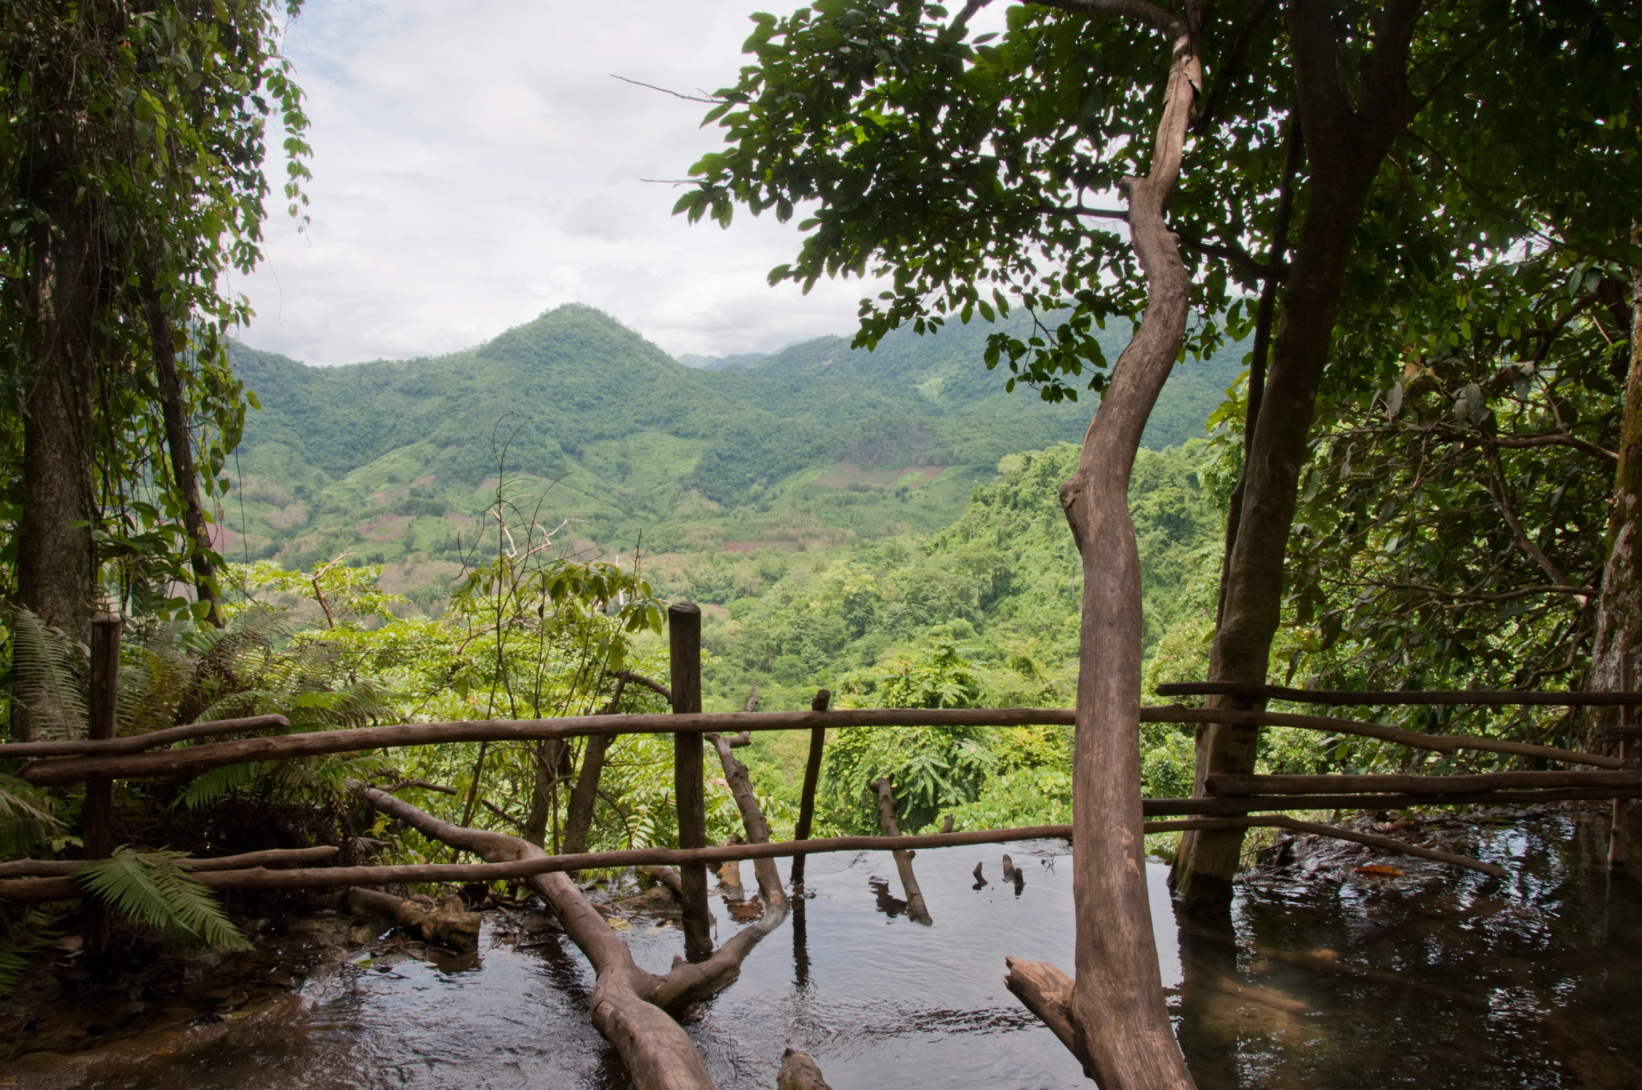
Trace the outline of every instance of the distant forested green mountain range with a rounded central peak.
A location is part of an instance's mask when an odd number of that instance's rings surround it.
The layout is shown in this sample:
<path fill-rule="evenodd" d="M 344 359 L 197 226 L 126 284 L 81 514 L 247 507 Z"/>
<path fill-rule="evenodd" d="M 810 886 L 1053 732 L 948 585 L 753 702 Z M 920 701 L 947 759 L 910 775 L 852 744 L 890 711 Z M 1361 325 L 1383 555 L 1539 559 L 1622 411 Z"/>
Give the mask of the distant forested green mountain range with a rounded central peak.
<path fill-rule="evenodd" d="M 900 332 L 872 353 L 823 337 L 719 369 L 583 305 L 440 358 L 309 368 L 236 345 L 261 412 L 220 542 L 291 566 L 401 561 L 410 586 L 476 538 L 494 552 L 479 520 L 498 489 L 601 550 L 640 532 L 647 553 L 928 534 L 1005 455 L 1080 438 L 1094 407 L 1005 394 L 982 363 L 995 328 Z M 1125 332 L 1105 337 L 1115 358 Z M 1181 364 L 1146 445 L 1202 435 L 1240 358 Z"/>

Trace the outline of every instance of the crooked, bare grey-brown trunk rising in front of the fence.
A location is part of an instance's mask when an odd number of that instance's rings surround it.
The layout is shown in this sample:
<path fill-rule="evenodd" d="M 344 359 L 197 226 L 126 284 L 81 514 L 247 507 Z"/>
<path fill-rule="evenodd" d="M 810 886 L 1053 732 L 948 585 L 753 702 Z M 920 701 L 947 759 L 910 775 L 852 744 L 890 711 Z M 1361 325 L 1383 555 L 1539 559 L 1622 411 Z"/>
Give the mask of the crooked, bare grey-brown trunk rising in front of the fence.
<path fill-rule="evenodd" d="M 1077 474 L 1061 488 L 1084 558 L 1072 767 L 1077 980 L 1066 993 L 1039 993 L 1041 1003 L 1018 995 L 1051 1028 L 1071 1024 L 1072 1052 L 1105 1090 L 1192 1087 L 1163 1001 L 1146 901 L 1141 584 L 1128 484 L 1146 417 L 1186 337 L 1190 279 L 1164 208 L 1181 174 L 1194 87 L 1200 84 L 1200 62 L 1182 33 L 1174 43 L 1151 172 L 1126 185 L 1130 235 L 1146 274 L 1146 312 L 1089 424 Z"/>

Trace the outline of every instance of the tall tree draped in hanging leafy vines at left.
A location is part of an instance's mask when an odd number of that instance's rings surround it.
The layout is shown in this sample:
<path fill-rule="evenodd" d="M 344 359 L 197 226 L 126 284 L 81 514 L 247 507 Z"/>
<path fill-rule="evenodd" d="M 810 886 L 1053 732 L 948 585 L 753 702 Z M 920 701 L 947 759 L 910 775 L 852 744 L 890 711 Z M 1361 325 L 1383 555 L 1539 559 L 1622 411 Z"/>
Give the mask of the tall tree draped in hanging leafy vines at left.
<path fill-rule="evenodd" d="M 99 583 L 195 583 L 212 609 L 190 425 L 207 488 L 248 404 L 223 337 L 250 317 L 220 274 L 259 259 L 268 115 L 305 177 L 300 92 L 274 0 L 18 0 L 0 11 L 0 478 L 15 601 L 84 639 Z M 156 322 L 158 318 L 158 322 Z M 177 366 L 182 341 L 186 366 Z M 167 366 L 169 364 L 169 366 Z M 179 420 L 179 415 L 182 417 Z M 181 424 L 181 427 L 179 427 Z M 169 442 L 169 458 L 166 458 Z M 105 570 L 113 561 L 117 570 Z"/>

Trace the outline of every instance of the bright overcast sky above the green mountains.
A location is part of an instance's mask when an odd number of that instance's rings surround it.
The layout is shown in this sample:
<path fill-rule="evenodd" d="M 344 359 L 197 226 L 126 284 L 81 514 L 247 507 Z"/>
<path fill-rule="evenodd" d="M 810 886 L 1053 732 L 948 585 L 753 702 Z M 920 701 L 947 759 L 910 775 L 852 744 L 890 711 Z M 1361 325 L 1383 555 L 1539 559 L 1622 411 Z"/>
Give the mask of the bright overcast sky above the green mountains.
<path fill-rule="evenodd" d="M 438 355 L 563 302 L 675 355 L 852 330 L 860 281 L 765 282 L 798 251 L 791 223 L 670 215 L 678 190 L 640 179 L 683 177 L 721 130 L 698 128 L 703 103 L 611 79 L 722 87 L 747 15 L 791 7 L 307 0 L 286 54 L 312 118 L 312 225 L 269 202 L 268 259 L 233 284 L 256 309 L 243 340 L 315 364 Z"/>

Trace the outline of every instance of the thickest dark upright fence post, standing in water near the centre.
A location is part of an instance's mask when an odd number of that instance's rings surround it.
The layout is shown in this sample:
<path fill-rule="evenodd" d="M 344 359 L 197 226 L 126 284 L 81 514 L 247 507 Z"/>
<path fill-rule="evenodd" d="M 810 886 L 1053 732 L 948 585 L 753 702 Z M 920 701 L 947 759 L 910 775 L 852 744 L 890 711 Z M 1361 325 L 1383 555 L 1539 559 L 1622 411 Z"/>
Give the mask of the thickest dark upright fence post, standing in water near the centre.
<path fill-rule="evenodd" d="M 701 609 L 691 602 L 667 607 L 672 665 L 673 714 L 701 711 Z M 673 735 L 673 796 L 678 799 L 678 847 L 708 845 L 706 785 L 701 780 L 701 734 Z M 713 954 L 708 914 L 708 868 L 685 863 L 678 868 L 683 888 L 685 957 L 706 960 Z"/>

